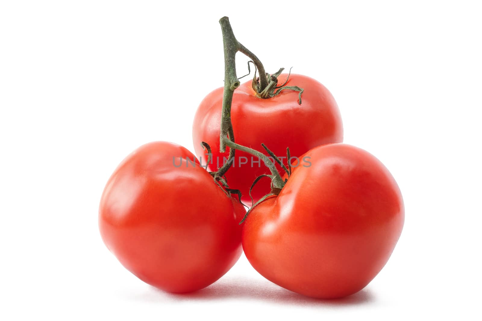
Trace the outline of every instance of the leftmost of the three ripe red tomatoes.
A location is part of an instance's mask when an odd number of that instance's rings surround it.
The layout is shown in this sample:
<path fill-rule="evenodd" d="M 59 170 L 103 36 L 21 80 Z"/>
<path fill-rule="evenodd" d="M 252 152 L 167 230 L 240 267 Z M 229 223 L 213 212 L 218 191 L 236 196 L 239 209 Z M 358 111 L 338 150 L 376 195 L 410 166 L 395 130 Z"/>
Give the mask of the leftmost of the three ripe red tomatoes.
<path fill-rule="evenodd" d="M 100 202 L 107 248 L 139 279 L 168 292 L 208 286 L 242 252 L 244 207 L 186 161 L 194 157 L 170 142 L 143 145 L 117 167 Z"/>

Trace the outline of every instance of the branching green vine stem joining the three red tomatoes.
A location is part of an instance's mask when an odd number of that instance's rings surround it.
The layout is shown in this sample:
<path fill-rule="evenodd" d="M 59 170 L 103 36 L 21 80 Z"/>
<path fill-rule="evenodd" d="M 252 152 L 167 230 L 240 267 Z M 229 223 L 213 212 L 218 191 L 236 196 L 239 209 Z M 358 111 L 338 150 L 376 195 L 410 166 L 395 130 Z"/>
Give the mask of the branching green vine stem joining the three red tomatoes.
<path fill-rule="evenodd" d="M 223 107 L 221 112 L 221 132 L 219 136 L 219 151 L 221 153 L 226 152 L 226 146 L 229 147 L 228 161 L 218 169 L 216 172 L 216 177 L 223 177 L 229 167 L 231 167 L 231 160 L 234 158 L 235 150 L 252 154 L 259 157 L 265 162 L 265 165 L 269 167 L 271 171 L 271 183 L 272 190 L 279 191 L 284 186 L 284 181 L 281 178 L 276 165 L 271 162 L 271 160 L 265 154 L 258 152 L 252 148 L 239 145 L 234 142 L 233 126 L 231 123 L 231 103 L 233 100 L 234 90 L 240 86 L 240 81 L 236 75 L 236 52 L 240 51 L 247 55 L 253 62 L 259 71 L 260 75 L 260 90 L 263 91 L 268 86 L 268 77 L 265 72 L 263 64 L 254 55 L 253 52 L 249 51 L 246 47 L 241 45 L 241 43 L 234 37 L 233 29 L 229 24 L 228 17 L 222 17 L 219 20 L 221 25 L 221 30 L 223 33 L 223 45 L 224 45 L 224 92 L 223 92 Z"/>

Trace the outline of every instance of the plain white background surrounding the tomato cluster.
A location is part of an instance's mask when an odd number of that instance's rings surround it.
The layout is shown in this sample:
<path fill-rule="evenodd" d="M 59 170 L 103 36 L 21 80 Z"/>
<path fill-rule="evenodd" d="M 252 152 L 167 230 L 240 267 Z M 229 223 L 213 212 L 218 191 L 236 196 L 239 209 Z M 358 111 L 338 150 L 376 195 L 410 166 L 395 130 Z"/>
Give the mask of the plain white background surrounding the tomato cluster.
<path fill-rule="evenodd" d="M 0 2 L 0 319 L 480 318 L 480 4 L 170 2 Z M 267 71 L 294 66 L 331 90 L 345 142 L 401 187 L 402 237 L 356 295 L 296 295 L 244 256 L 212 286 L 169 295 L 100 239 L 100 195 L 123 157 L 156 140 L 193 149 L 194 112 L 223 85 L 224 15 Z"/>

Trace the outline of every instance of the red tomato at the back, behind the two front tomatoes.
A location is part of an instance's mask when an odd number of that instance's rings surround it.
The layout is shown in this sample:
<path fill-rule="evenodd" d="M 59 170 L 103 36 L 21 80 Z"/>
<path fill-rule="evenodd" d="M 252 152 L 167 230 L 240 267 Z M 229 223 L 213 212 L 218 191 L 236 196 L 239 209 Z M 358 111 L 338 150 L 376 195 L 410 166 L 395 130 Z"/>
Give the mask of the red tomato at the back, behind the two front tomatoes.
<path fill-rule="evenodd" d="M 284 83 L 287 76 L 281 74 L 278 83 Z M 292 90 L 282 90 L 279 95 L 268 99 L 258 98 L 251 88 L 251 81 L 241 84 L 234 91 L 231 121 L 235 141 L 267 154 L 261 146 L 265 143 L 280 157 L 286 156 L 287 147 L 291 156 L 299 157 L 313 147 L 343 141 L 341 116 L 332 94 L 321 83 L 307 76 L 291 74 L 287 85 L 304 89 L 301 105 L 298 104 L 298 92 Z M 222 166 L 223 156 L 228 155 L 219 153 L 222 98 L 223 88 L 208 94 L 196 112 L 192 127 L 194 148 L 196 154 L 203 157 L 204 163 L 206 156 L 200 142 L 205 141 L 211 146 L 213 161 L 209 168 L 213 171 Z M 254 179 L 270 173 L 263 161 L 257 161 L 250 154 L 236 151 L 234 165 L 226 173 L 229 186 L 239 189 L 246 202 L 251 202 L 249 188 Z M 246 164 L 240 166 L 244 162 Z M 253 189 L 254 201 L 269 190 L 269 180 L 261 180 Z"/>

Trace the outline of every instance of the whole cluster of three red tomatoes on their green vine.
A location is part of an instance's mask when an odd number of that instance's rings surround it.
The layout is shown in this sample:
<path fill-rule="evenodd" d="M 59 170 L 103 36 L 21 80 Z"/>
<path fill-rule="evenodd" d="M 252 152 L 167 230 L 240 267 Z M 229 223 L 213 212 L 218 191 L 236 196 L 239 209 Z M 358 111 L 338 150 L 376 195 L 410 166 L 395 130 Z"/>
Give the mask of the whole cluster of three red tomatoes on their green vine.
<path fill-rule="evenodd" d="M 255 270 L 291 291 L 356 293 L 402 232 L 397 183 L 375 156 L 342 143 L 338 106 L 321 83 L 281 70 L 264 78 L 228 18 L 220 23 L 232 59 L 224 89 L 197 110 L 198 158 L 163 141 L 128 155 L 102 194 L 104 243 L 139 279 L 168 292 L 210 285 L 244 250 Z M 236 51 L 251 54 L 260 72 L 241 86 L 228 65 Z M 241 201 L 253 202 L 248 212 Z"/>

